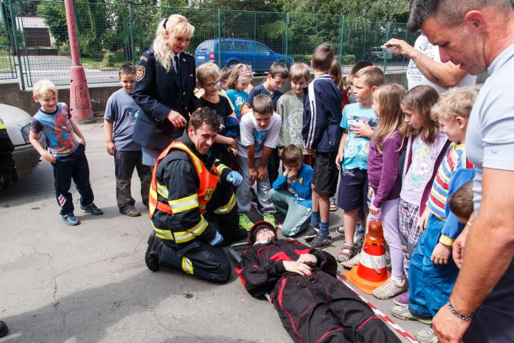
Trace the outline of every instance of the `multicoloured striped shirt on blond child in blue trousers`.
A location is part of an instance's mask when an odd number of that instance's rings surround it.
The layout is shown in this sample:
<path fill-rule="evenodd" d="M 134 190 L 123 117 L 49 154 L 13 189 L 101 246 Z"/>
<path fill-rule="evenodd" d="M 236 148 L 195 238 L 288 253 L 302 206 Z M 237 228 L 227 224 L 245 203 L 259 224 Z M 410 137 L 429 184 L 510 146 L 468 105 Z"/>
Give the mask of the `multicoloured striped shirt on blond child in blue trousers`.
<path fill-rule="evenodd" d="M 450 176 L 457 169 L 473 168 L 466 157 L 465 144 L 451 143 L 439 165 L 437 176 L 432 185 L 432 191 L 428 197 L 428 209 L 440 220 L 445 220 L 445 205 L 450 189 Z"/>

